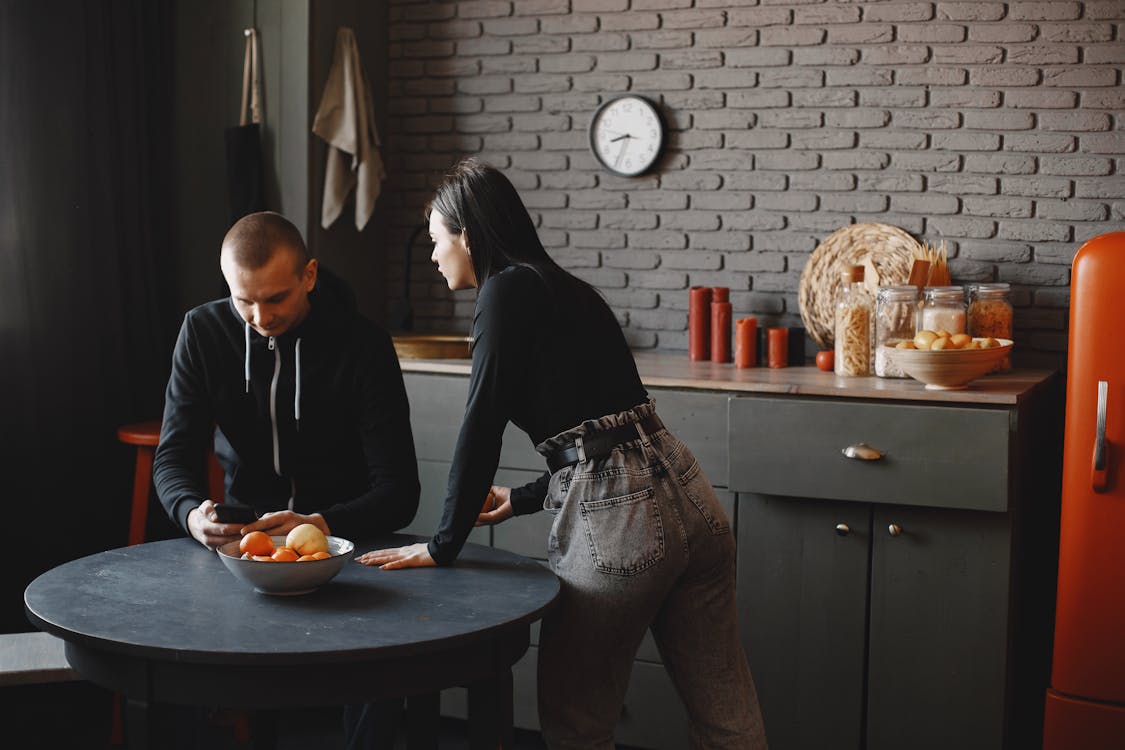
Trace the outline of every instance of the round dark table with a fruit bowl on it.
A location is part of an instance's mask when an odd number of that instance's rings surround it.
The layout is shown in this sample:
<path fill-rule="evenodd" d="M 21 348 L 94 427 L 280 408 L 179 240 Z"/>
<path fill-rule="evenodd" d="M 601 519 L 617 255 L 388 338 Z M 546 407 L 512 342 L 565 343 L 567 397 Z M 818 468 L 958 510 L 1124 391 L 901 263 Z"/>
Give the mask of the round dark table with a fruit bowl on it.
<path fill-rule="evenodd" d="M 394 534 L 356 554 L 423 541 Z M 512 665 L 555 602 L 549 569 L 466 544 L 453 566 L 349 563 L 302 596 L 259 594 L 195 540 L 72 560 L 24 594 L 84 678 L 126 696 L 130 747 L 159 747 L 150 704 L 238 708 L 407 697 L 411 748 L 436 747 L 438 692 L 469 690 L 474 748 L 508 747 Z"/>

